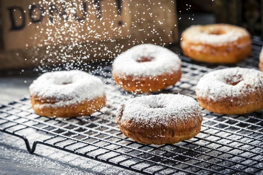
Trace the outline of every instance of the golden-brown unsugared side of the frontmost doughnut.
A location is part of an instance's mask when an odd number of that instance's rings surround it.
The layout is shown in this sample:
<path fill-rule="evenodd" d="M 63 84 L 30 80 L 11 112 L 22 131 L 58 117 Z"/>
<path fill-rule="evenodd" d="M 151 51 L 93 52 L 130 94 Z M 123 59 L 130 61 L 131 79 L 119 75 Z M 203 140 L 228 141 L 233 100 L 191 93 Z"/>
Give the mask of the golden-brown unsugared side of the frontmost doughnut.
<path fill-rule="evenodd" d="M 123 110 L 123 108 L 119 108 Z M 117 123 L 120 125 L 120 131 L 127 137 L 145 144 L 162 145 L 166 143 L 174 144 L 182 140 L 189 140 L 196 136 L 201 130 L 203 120 L 202 113 L 194 113 L 196 116 L 193 120 L 185 122 L 171 122 L 169 126 L 153 125 L 145 127 L 140 124 L 144 121 L 134 121 L 133 119 L 120 122 L 123 112 L 117 113 Z M 171 117 L 171 116 L 167 116 Z M 123 120 L 122 120 L 123 121 Z M 177 120 L 178 121 L 178 120 Z"/>

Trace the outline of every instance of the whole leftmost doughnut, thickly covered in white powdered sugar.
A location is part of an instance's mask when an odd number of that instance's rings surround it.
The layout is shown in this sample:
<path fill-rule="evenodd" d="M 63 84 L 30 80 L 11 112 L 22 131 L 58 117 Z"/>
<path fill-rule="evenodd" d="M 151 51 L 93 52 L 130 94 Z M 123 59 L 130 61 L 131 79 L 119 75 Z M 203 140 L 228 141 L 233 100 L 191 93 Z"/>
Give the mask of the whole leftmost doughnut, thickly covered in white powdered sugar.
<path fill-rule="evenodd" d="M 32 108 L 42 116 L 90 115 L 106 102 L 102 80 L 78 70 L 44 73 L 29 91 Z"/>

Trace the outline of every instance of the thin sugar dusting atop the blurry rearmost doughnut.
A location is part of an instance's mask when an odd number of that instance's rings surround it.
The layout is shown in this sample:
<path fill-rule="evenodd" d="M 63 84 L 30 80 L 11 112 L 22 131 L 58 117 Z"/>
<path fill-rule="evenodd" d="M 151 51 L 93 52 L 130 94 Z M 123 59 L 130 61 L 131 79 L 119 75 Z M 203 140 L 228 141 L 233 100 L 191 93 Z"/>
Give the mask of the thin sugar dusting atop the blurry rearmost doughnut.
<path fill-rule="evenodd" d="M 223 34 L 213 34 L 218 30 Z M 185 34 L 184 34 L 185 33 Z M 193 25 L 184 31 L 183 39 L 190 40 L 192 43 L 203 43 L 212 46 L 226 46 L 238 38 L 248 36 L 249 33 L 242 27 L 229 24 Z M 239 43 L 239 47 L 245 47 L 250 42 Z M 243 45 L 243 46 L 242 46 Z"/>

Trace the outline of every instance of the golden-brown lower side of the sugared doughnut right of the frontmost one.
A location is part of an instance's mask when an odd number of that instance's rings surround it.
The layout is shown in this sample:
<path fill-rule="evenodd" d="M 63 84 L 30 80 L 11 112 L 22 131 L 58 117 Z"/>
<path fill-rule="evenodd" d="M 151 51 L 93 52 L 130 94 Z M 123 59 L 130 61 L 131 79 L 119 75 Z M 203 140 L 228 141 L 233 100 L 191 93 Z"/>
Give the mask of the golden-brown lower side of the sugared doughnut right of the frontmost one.
<path fill-rule="evenodd" d="M 246 114 L 263 108 L 263 94 L 257 90 L 243 97 L 223 98 L 217 101 L 197 95 L 197 100 L 200 106 L 218 114 Z"/>

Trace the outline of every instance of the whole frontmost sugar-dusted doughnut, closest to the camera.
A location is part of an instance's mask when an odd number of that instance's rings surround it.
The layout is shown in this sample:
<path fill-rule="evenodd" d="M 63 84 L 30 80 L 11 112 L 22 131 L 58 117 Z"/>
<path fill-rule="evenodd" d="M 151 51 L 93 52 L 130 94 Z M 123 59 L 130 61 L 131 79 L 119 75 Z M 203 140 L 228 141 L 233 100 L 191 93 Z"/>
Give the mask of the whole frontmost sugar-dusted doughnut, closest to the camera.
<path fill-rule="evenodd" d="M 159 94 L 123 101 L 117 123 L 127 137 L 145 144 L 178 143 L 196 136 L 203 115 L 197 101 L 180 94 Z"/>

